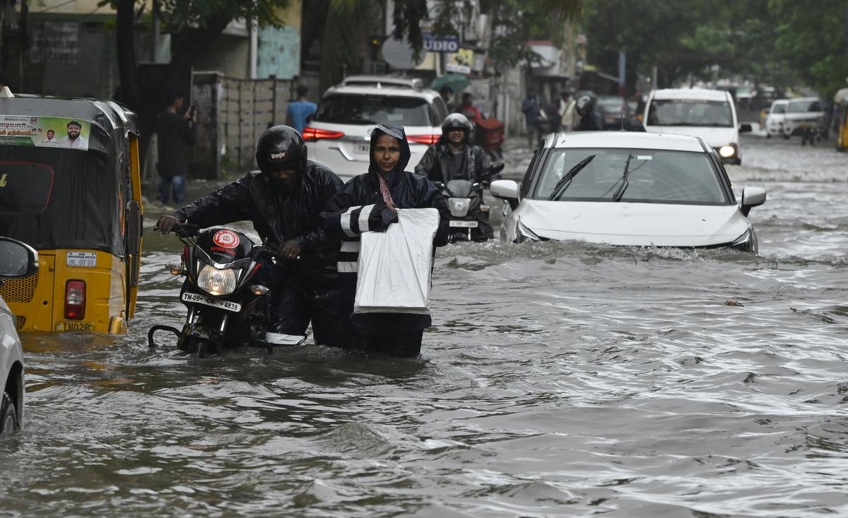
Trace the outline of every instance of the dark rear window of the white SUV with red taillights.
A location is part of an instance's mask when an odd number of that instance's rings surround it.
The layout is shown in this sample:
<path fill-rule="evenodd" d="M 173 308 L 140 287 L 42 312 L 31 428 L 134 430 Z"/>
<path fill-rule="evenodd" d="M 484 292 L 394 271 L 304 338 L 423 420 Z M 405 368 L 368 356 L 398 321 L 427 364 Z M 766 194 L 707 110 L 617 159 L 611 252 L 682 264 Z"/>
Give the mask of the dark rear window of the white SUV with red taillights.
<path fill-rule="evenodd" d="M 325 97 L 314 120 L 337 124 L 433 125 L 425 99 L 378 95 Z"/>

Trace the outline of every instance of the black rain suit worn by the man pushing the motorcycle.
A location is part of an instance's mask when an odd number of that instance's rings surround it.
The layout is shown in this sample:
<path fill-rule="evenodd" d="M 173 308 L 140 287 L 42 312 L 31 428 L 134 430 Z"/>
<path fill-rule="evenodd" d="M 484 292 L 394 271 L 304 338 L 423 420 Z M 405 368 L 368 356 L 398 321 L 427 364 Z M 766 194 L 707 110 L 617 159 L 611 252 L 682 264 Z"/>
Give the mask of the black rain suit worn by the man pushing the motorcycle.
<path fill-rule="evenodd" d="M 251 171 L 172 214 L 201 227 L 249 220 L 265 246 L 275 250 L 288 240 L 298 243 L 300 259 L 277 259 L 263 272 L 271 284 L 269 343 L 297 343 L 310 320 L 316 343 L 339 345 L 342 340 L 336 317 L 339 240 L 326 236 L 319 225 L 321 209 L 342 185 L 331 170 L 307 161 L 293 192 L 280 192 L 268 175 Z"/>

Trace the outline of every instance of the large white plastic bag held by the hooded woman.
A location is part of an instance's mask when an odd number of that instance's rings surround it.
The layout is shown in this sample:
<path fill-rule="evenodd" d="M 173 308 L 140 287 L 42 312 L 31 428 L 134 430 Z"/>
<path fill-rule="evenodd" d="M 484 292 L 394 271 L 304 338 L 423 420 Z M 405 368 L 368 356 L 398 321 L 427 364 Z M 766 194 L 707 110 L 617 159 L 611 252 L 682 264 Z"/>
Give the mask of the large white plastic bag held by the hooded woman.
<path fill-rule="evenodd" d="M 385 232 L 363 232 L 355 313 L 430 313 L 436 209 L 398 209 Z"/>

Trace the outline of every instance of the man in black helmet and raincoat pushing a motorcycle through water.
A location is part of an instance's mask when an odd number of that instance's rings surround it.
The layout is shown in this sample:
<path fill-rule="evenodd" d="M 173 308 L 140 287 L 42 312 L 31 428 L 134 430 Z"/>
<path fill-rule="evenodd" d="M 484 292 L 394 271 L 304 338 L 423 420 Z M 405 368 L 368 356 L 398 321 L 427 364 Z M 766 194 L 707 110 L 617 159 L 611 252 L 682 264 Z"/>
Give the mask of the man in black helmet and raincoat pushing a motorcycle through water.
<path fill-rule="evenodd" d="M 341 346 L 338 318 L 339 241 L 319 228 L 321 209 L 342 187 L 331 170 L 306 159 L 304 139 L 294 128 L 277 125 L 259 137 L 259 171 L 159 218 L 163 234 L 176 224 L 209 227 L 250 220 L 276 265 L 265 272 L 271 285 L 265 341 L 296 345 L 312 323 L 315 343 Z"/>

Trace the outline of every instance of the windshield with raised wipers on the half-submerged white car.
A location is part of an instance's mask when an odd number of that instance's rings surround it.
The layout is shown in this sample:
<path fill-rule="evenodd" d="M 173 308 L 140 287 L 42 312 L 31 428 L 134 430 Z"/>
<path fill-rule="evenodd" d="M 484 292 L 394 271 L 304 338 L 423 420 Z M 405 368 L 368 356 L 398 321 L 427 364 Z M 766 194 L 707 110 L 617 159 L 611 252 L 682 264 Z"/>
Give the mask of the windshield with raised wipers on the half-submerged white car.
<path fill-rule="evenodd" d="M 729 203 L 717 172 L 706 153 L 656 149 L 555 149 L 545 161 L 534 199 L 550 199 L 557 185 L 580 161 L 595 155 L 568 187 L 558 193 L 560 201 L 611 202 L 622 185 L 625 164 L 628 187 L 620 201 L 636 203 L 683 203 L 724 205 Z"/>

